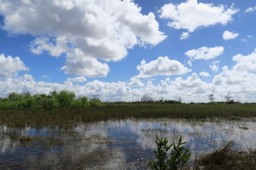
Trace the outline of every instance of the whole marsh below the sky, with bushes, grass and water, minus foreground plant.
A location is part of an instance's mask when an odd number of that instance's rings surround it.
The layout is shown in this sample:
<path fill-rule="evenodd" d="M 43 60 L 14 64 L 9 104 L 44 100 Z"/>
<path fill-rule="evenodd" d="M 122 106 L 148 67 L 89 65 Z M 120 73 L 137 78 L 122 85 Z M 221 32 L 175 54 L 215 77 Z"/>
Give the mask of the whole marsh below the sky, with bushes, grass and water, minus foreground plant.
<path fill-rule="evenodd" d="M 255 167 L 256 104 L 104 103 L 63 90 L 0 102 L 0 167 L 150 169 L 156 134 L 186 142 L 183 169 Z M 243 167 L 243 168 L 242 168 Z"/>

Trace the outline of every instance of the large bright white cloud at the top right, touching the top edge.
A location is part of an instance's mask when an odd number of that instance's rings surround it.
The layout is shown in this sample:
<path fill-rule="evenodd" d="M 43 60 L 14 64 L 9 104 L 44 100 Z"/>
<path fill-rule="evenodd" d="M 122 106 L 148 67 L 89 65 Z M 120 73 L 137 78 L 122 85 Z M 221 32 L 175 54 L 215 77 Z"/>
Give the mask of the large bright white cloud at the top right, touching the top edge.
<path fill-rule="evenodd" d="M 198 3 L 197 0 L 188 0 L 180 4 L 164 4 L 159 10 L 160 18 L 170 19 L 170 27 L 175 29 L 187 29 L 195 31 L 199 27 L 209 25 L 226 25 L 232 21 L 232 16 L 237 13 L 236 8 L 227 8 L 224 5 L 214 6 L 213 4 Z"/>

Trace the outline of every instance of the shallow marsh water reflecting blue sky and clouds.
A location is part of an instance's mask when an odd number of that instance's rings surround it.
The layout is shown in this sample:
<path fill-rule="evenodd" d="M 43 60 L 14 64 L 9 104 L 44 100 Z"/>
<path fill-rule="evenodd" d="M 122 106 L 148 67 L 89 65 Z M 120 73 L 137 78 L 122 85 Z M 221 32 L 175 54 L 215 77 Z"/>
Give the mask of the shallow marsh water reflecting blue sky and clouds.
<path fill-rule="evenodd" d="M 228 141 L 247 150 L 256 146 L 256 119 L 128 119 L 68 129 L 0 125 L 0 169 L 148 169 L 156 133 L 170 142 L 182 135 L 193 157 Z"/>

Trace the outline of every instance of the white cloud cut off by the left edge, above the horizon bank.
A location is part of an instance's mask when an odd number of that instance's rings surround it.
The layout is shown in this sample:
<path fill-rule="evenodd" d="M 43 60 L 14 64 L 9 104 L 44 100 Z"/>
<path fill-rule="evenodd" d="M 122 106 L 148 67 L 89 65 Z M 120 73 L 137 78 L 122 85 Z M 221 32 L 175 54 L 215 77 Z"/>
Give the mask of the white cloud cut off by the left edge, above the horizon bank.
<path fill-rule="evenodd" d="M 9 78 L 17 76 L 18 71 L 29 71 L 28 67 L 24 65 L 19 57 L 8 56 L 0 54 L 0 78 Z"/>

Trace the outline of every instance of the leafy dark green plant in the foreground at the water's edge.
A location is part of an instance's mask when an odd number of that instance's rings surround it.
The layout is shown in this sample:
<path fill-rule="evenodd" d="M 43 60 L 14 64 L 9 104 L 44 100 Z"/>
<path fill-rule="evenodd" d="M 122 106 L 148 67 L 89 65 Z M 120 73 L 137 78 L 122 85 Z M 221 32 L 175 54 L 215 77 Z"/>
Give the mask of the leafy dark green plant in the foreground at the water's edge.
<path fill-rule="evenodd" d="M 166 138 L 158 138 L 156 134 L 156 145 L 157 149 L 154 150 L 156 154 L 156 162 L 148 162 L 152 169 L 156 170 L 176 170 L 184 167 L 184 164 L 190 159 L 191 153 L 189 153 L 188 148 L 184 148 L 182 142 L 182 136 L 180 136 L 179 142 L 177 145 L 172 143 L 168 145 L 168 140 Z M 168 151 L 173 146 L 173 149 L 168 154 Z"/>

